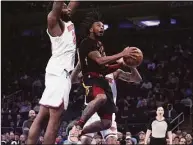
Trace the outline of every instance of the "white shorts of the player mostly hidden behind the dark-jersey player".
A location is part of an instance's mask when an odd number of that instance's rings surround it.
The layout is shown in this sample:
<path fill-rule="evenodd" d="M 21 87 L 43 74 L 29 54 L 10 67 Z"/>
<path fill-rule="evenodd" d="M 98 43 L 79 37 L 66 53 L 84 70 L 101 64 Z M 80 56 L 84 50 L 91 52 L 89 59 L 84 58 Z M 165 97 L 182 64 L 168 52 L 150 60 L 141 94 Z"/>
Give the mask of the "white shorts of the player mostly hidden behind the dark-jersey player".
<path fill-rule="evenodd" d="M 91 118 L 86 122 L 86 124 L 84 125 L 84 127 L 92 124 L 95 121 L 100 121 L 100 117 L 98 116 L 97 113 L 93 114 L 93 116 L 91 116 Z M 89 136 L 89 137 L 94 137 L 95 133 L 87 133 L 85 136 Z M 103 139 L 107 139 L 110 136 L 114 136 L 117 138 L 117 123 L 115 122 L 115 120 L 112 121 L 112 126 L 109 129 L 103 130 L 101 131 L 101 135 L 103 137 Z"/>

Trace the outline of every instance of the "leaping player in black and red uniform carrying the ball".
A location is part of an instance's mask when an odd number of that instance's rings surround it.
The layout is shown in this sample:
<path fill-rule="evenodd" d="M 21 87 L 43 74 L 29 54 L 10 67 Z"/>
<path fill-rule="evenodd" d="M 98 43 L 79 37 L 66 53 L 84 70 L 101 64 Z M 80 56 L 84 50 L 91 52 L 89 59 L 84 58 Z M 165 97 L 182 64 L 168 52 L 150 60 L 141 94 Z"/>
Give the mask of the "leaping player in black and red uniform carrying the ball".
<path fill-rule="evenodd" d="M 83 84 L 87 88 L 86 95 L 89 103 L 80 120 L 70 132 L 69 140 L 71 142 L 78 142 L 79 135 L 99 132 L 111 127 L 112 114 L 116 112 L 116 106 L 105 75 L 116 71 L 123 65 L 123 63 L 112 65 L 120 58 L 131 57 L 135 59 L 137 56 L 136 49 L 129 49 L 129 47 L 118 54 L 105 56 L 103 45 L 99 41 L 104 33 L 104 24 L 97 12 L 89 13 L 83 24 L 82 27 L 85 27 L 87 37 L 80 44 L 79 57 Z M 83 129 L 87 120 L 95 112 L 98 113 L 101 120 Z"/>

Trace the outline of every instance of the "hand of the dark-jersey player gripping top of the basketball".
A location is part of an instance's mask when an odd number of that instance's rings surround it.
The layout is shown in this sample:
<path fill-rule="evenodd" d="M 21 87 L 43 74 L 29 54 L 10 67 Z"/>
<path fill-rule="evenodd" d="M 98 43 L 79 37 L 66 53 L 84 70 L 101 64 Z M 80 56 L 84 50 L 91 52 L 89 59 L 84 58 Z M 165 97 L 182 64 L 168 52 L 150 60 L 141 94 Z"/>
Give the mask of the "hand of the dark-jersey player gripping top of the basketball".
<path fill-rule="evenodd" d="M 135 47 L 126 47 L 123 51 L 123 56 L 124 57 L 130 57 L 133 59 L 136 59 L 137 57 L 137 49 Z"/>

